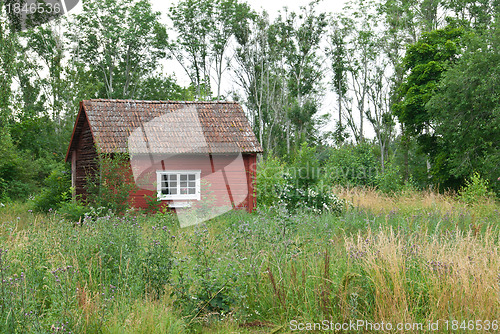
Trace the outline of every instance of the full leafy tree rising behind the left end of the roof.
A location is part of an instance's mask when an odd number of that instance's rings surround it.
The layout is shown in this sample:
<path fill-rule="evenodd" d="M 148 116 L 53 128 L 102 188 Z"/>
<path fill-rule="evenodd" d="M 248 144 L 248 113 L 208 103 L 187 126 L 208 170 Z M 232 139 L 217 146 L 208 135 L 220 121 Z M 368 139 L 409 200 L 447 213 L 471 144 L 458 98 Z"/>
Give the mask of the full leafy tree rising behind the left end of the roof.
<path fill-rule="evenodd" d="M 72 55 L 102 82 L 101 97 L 134 98 L 165 56 L 165 27 L 148 0 L 86 0 L 69 25 Z"/>

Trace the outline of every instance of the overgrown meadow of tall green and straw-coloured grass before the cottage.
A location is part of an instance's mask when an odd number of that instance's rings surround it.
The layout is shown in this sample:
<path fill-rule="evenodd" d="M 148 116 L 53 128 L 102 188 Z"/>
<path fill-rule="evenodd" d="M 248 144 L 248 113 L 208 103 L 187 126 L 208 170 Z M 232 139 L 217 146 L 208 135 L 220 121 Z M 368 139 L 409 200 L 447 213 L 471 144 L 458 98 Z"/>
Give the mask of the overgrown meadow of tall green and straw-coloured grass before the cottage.
<path fill-rule="evenodd" d="M 497 202 L 336 192 L 350 203 L 340 214 L 274 206 L 184 229 L 169 213 L 76 221 L 8 203 L 0 332 L 293 333 L 323 321 L 333 332 L 359 320 L 498 330 Z"/>

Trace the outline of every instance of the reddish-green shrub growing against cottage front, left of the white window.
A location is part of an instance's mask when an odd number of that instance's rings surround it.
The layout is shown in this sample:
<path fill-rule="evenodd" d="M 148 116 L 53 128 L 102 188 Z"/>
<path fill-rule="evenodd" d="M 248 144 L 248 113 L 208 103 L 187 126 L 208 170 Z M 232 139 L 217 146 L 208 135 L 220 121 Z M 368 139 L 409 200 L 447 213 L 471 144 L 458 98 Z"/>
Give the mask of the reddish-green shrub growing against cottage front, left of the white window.
<path fill-rule="evenodd" d="M 123 213 L 129 207 L 129 195 L 137 189 L 127 154 L 99 154 L 95 175 L 87 178 L 87 202 Z"/>

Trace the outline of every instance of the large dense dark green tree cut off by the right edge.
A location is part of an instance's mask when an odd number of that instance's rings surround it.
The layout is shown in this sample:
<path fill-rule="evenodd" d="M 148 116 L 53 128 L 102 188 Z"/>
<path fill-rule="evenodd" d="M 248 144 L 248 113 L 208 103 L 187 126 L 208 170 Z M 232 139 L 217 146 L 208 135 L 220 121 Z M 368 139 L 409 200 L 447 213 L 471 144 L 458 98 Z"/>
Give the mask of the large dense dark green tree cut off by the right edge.
<path fill-rule="evenodd" d="M 500 25 L 477 37 L 442 75 L 426 105 L 434 126 L 435 169 L 463 182 L 479 172 L 500 192 Z M 436 172 L 437 172 L 436 171 Z"/>

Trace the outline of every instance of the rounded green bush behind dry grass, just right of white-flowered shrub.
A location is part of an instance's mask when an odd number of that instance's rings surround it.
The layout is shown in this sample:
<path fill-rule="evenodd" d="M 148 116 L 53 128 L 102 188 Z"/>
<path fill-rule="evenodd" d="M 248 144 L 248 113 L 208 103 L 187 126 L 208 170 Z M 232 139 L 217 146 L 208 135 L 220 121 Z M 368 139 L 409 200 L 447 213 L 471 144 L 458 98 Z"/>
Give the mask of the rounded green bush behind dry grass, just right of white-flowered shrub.
<path fill-rule="evenodd" d="M 374 147 L 365 142 L 332 149 L 324 169 L 325 183 L 353 187 L 374 186 L 379 167 Z"/>

